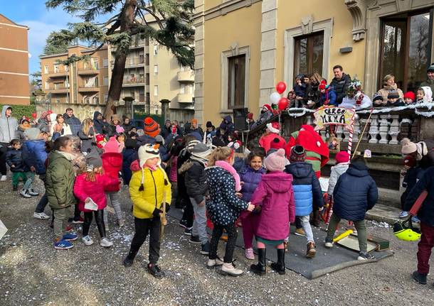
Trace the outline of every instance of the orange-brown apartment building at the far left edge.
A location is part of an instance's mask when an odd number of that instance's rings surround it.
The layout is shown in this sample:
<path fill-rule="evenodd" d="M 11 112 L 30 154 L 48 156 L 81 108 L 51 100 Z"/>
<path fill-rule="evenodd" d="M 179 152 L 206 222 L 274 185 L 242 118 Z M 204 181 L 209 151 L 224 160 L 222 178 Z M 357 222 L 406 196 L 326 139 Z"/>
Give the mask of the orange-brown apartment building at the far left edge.
<path fill-rule="evenodd" d="M 27 26 L 0 13 L 0 104 L 29 104 Z"/>

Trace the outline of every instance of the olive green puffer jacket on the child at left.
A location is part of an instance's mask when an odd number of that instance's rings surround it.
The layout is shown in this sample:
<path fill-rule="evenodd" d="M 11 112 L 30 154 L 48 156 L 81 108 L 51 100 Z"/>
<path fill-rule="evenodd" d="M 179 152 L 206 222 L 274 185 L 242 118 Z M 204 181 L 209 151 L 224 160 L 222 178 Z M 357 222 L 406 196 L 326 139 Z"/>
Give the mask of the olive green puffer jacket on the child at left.
<path fill-rule="evenodd" d="M 51 152 L 46 173 L 46 195 L 52 209 L 75 204 L 74 181 L 75 175 L 70 160 L 58 151 Z"/>

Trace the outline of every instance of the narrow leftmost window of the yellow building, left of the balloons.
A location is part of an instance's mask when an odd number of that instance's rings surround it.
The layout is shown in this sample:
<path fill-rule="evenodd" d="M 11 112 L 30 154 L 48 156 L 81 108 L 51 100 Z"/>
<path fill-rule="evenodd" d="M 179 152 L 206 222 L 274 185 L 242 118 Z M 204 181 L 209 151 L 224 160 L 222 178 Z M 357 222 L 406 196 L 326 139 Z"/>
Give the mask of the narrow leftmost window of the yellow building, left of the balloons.
<path fill-rule="evenodd" d="M 245 54 L 228 58 L 228 109 L 244 106 Z"/>

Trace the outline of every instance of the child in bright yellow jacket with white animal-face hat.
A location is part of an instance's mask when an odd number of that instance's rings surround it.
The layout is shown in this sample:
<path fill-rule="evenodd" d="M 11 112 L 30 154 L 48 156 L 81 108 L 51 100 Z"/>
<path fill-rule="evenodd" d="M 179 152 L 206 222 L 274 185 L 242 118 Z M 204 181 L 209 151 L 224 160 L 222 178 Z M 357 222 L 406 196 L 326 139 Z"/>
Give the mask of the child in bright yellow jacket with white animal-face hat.
<path fill-rule="evenodd" d="M 148 272 L 156 278 L 164 277 L 164 272 L 157 266 L 160 251 L 160 214 L 163 202 L 166 211 L 171 203 L 171 186 L 166 172 L 161 168 L 158 145 L 144 145 L 139 148 L 139 170 L 134 171 L 129 182 L 129 195 L 132 200 L 134 215 L 134 238 L 129 253 L 124 259 L 124 266 L 132 266 L 140 246 L 149 232 Z"/>

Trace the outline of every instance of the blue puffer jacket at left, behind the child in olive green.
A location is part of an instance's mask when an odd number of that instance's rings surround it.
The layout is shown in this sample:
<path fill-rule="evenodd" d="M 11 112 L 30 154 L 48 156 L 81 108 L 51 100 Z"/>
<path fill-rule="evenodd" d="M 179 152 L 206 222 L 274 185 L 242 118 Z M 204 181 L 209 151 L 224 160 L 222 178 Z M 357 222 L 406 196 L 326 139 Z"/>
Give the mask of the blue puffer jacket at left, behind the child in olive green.
<path fill-rule="evenodd" d="M 23 161 L 28 168 L 32 166 L 36 169 L 36 174 L 44 175 L 46 173 L 46 141 L 38 139 L 34 141 L 24 141 L 21 146 Z"/>

